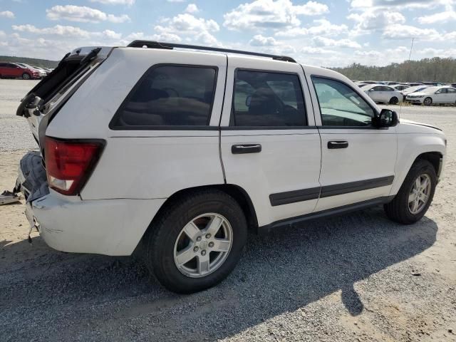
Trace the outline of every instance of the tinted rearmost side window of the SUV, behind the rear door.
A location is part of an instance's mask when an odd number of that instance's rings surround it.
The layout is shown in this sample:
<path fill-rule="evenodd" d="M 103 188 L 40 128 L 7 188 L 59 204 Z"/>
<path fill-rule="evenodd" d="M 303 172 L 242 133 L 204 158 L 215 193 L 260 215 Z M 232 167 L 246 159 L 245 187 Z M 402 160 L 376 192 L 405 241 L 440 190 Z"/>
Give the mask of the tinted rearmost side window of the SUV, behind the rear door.
<path fill-rule="evenodd" d="M 209 125 L 217 68 L 153 66 L 116 113 L 111 128 Z"/>

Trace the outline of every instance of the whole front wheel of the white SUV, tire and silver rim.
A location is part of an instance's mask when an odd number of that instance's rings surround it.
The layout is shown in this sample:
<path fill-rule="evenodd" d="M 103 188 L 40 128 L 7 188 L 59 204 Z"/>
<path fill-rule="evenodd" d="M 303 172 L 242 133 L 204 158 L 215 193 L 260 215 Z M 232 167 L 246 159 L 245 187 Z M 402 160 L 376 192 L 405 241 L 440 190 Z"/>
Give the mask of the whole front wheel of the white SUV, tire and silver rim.
<path fill-rule="evenodd" d="M 384 209 L 390 219 L 402 224 L 412 224 L 427 212 L 434 197 L 437 175 L 427 160 L 415 162 L 396 195 Z"/>

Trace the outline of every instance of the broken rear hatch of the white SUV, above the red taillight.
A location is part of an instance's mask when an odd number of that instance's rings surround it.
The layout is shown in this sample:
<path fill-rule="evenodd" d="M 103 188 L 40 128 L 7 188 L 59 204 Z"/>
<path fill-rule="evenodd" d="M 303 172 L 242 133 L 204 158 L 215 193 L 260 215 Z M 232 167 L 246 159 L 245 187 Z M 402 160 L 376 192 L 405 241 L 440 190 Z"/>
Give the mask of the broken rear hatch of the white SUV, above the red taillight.
<path fill-rule="evenodd" d="M 43 157 L 48 123 L 112 50 L 113 47 L 108 46 L 76 48 L 67 53 L 58 66 L 21 100 L 16 115 L 27 119 Z"/>

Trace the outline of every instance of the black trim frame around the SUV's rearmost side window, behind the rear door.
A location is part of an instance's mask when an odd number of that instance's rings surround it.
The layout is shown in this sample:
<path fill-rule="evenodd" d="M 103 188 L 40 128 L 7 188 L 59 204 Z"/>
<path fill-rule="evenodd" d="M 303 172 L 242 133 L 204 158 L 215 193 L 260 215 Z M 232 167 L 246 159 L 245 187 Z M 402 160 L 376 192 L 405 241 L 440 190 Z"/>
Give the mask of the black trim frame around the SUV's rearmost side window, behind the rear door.
<path fill-rule="evenodd" d="M 132 43 L 134 43 L 133 41 Z M 138 88 L 141 86 L 142 81 L 150 74 L 152 71 L 154 71 L 156 68 L 160 68 L 161 66 L 177 66 L 177 67 L 184 67 L 184 68 L 210 68 L 214 69 L 215 71 L 215 78 L 214 78 L 214 86 L 212 88 L 212 101 L 211 101 L 211 106 L 209 108 L 209 115 L 207 116 L 207 125 L 202 126 L 202 125 L 133 125 L 133 126 L 121 126 L 121 125 L 115 125 L 115 123 L 118 120 L 118 117 L 122 115 L 123 108 L 125 105 L 130 101 L 130 98 L 132 98 L 133 94 L 135 94 L 135 91 L 138 90 Z M 110 130 L 218 130 L 217 126 L 209 126 L 209 123 L 211 121 L 212 117 L 212 109 L 214 108 L 214 99 L 215 99 L 215 92 L 217 91 L 217 81 L 219 79 L 219 68 L 218 66 L 200 66 L 197 64 L 179 64 L 179 63 L 159 63 L 151 66 L 150 68 L 145 71 L 144 75 L 140 77 L 138 82 L 133 86 L 132 90 L 130 90 L 130 93 L 128 93 L 127 97 L 123 102 L 120 104 L 118 110 L 115 111 L 115 114 L 113 118 L 110 120 L 110 123 L 108 127 Z"/>

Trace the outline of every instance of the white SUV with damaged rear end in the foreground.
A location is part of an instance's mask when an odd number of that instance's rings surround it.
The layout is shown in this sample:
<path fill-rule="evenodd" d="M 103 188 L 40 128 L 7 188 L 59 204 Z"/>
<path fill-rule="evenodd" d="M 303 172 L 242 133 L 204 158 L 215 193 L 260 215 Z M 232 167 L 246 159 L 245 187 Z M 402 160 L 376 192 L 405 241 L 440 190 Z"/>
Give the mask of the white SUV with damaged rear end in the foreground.
<path fill-rule="evenodd" d="M 220 48 L 78 48 L 17 114 L 40 151 L 16 187 L 46 243 L 138 248 L 181 293 L 222 281 L 249 229 L 375 204 L 416 222 L 445 162 L 441 130 L 398 123 L 340 73 Z"/>

